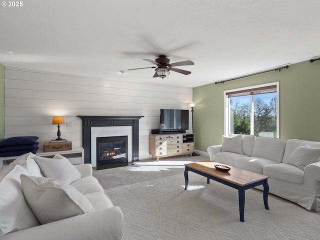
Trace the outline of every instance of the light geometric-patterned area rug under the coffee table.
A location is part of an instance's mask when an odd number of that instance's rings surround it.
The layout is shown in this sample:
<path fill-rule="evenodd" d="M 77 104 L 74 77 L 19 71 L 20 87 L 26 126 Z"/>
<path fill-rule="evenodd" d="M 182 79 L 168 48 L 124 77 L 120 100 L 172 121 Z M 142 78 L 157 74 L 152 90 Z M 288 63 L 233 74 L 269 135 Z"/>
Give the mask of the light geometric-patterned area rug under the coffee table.
<path fill-rule="evenodd" d="M 123 240 L 319 239 L 320 216 L 262 191 L 245 191 L 244 222 L 236 189 L 189 172 L 105 190 L 124 215 Z"/>

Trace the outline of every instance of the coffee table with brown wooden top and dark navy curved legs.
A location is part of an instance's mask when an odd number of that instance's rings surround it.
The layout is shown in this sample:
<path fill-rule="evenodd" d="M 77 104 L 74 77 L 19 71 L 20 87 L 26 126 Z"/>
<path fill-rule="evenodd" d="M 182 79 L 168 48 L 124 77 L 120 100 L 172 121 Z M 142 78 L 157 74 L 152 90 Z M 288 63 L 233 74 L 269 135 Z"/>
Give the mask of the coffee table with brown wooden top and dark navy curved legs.
<path fill-rule="evenodd" d="M 263 202 L 264 207 L 269 209 L 268 207 L 268 193 L 269 193 L 269 185 L 267 182 L 268 176 L 258 174 L 252 171 L 243 170 L 234 166 L 229 166 L 231 169 L 227 172 L 220 171 L 215 169 L 215 164 L 221 164 L 219 162 L 214 161 L 199 161 L 184 164 L 184 179 L 185 179 L 185 190 L 188 187 L 188 171 L 193 171 L 197 174 L 206 177 L 206 182 L 209 183 L 209 179 L 213 179 L 215 181 L 221 182 L 225 185 L 231 186 L 235 189 L 238 189 L 239 195 L 239 211 L 240 211 L 240 221 L 244 221 L 244 191 L 246 189 L 252 188 L 254 186 L 263 185 Z"/>

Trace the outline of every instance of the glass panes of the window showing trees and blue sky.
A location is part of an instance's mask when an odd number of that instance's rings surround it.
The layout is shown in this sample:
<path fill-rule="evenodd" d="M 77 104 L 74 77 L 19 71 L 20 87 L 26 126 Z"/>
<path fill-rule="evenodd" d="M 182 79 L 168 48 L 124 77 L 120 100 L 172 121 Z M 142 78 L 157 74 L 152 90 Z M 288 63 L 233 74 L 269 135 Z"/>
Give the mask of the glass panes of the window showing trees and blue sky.
<path fill-rule="evenodd" d="M 276 137 L 276 92 L 234 96 L 229 100 L 230 133 Z M 251 108 L 253 109 L 252 123 Z"/>

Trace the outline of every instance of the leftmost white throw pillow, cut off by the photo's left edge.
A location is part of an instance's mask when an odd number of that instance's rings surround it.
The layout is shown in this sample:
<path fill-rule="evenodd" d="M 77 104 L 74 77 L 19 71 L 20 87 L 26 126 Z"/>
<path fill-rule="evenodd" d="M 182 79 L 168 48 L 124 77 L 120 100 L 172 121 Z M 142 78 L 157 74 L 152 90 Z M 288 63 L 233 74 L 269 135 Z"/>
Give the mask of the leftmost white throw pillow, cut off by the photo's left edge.
<path fill-rule="evenodd" d="M 20 174 L 29 173 L 16 165 L 0 182 L 0 236 L 39 225 L 24 199 Z"/>

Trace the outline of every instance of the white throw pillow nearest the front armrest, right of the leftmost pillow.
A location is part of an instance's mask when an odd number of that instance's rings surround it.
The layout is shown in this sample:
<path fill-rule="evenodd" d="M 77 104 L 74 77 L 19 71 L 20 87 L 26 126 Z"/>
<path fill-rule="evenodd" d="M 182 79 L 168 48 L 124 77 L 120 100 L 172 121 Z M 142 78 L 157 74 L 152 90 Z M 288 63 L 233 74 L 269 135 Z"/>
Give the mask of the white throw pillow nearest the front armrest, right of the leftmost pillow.
<path fill-rule="evenodd" d="M 63 181 L 20 175 L 23 194 L 41 224 L 94 211 L 89 200 Z"/>

